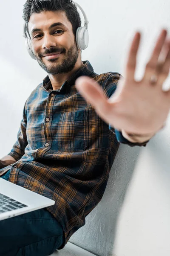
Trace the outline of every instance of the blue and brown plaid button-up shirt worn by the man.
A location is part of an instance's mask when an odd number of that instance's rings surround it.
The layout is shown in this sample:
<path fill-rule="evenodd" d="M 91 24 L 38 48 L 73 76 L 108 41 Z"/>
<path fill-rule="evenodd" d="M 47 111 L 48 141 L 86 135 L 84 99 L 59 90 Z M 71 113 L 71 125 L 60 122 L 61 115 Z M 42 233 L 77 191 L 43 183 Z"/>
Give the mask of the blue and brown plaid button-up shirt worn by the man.
<path fill-rule="evenodd" d="M 47 207 L 62 224 L 65 242 L 85 225 L 101 201 L 119 143 L 130 143 L 106 124 L 75 87 L 79 76 L 97 81 L 107 97 L 116 90 L 119 73 L 94 73 L 88 61 L 60 89 L 47 76 L 26 100 L 17 141 L 8 154 L 17 161 L 0 170 L 9 181 L 51 198 Z"/>

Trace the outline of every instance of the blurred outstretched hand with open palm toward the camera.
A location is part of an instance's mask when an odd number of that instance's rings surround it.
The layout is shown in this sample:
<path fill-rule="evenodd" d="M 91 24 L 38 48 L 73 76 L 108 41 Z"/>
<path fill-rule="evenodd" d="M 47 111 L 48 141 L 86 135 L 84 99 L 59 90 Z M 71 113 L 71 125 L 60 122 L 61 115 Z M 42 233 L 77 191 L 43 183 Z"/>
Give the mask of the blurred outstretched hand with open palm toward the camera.
<path fill-rule="evenodd" d="M 163 91 L 162 84 L 170 70 L 170 40 L 163 29 L 149 62 L 144 77 L 135 81 L 136 55 L 141 35 L 136 32 L 125 66 L 125 75 L 119 79 L 111 98 L 107 98 L 102 88 L 93 79 L 81 76 L 76 81 L 77 90 L 90 102 L 96 113 L 117 130 L 135 134 L 154 134 L 164 125 L 170 111 L 170 90 Z M 159 61 L 164 50 L 164 61 Z M 153 75 L 157 81 L 150 81 Z"/>

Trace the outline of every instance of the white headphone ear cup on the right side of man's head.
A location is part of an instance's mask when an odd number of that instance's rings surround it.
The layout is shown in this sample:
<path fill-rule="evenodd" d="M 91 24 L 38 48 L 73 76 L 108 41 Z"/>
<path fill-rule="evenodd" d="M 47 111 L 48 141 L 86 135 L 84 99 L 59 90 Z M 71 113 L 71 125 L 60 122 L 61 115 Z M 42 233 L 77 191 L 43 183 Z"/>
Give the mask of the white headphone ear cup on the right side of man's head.
<path fill-rule="evenodd" d="M 88 47 L 89 35 L 88 29 L 84 27 L 79 27 L 76 32 L 77 47 L 79 50 L 85 50 Z"/>

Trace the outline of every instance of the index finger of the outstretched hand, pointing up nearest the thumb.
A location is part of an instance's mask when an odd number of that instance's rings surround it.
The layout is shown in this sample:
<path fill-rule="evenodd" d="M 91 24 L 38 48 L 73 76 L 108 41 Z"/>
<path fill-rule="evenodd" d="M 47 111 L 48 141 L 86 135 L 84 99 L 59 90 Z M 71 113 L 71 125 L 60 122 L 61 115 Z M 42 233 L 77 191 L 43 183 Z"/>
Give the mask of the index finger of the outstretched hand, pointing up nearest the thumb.
<path fill-rule="evenodd" d="M 134 80 L 135 70 L 136 70 L 136 55 L 139 48 L 141 34 L 136 32 L 127 58 L 126 70 L 125 70 L 125 79 Z"/>

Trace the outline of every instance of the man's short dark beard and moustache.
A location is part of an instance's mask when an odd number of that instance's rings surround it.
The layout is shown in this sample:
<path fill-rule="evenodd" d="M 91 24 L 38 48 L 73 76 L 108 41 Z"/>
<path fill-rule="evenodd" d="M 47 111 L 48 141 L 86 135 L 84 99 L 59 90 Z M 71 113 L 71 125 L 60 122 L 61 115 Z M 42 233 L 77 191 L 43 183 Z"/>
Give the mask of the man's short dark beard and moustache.
<path fill-rule="evenodd" d="M 51 47 L 50 50 L 48 50 L 48 52 L 45 52 L 45 54 L 50 54 L 53 52 L 62 52 L 65 54 L 66 50 L 65 48 L 54 49 Z M 70 49 L 67 52 L 67 55 L 65 56 L 65 58 L 62 60 L 60 64 L 57 63 L 57 60 L 56 60 L 57 58 L 49 59 L 48 61 L 54 62 L 54 64 L 48 67 L 44 64 L 44 62 L 42 62 L 42 55 L 40 55 L 39 58 L 37 57 L 36 58 L 38 63 L 40 64 L 40 67 L 42 67 L 43 70 L 45 70 L 48 74 L 57 75 L 62 73 L 68 73 L 71 70 L 73 70 L 77 62 L 78 56 L 79 56 L 79 52 L 78 52 L 77 44 L 74 44 L 73 46 L 70 47 Z"/>

